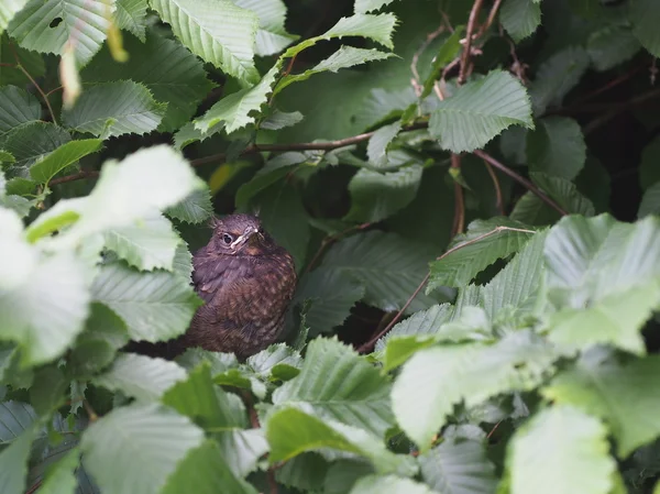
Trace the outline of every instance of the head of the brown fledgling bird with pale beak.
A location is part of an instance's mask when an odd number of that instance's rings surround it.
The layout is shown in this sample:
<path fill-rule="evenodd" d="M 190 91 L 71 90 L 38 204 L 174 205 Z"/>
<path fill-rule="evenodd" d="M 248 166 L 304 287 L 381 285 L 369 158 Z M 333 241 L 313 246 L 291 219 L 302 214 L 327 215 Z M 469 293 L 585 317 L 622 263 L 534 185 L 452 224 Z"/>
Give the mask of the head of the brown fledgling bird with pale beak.
<path fill-rule="evenodd" d="M 211 244 L 217 253 L 226 255 L 263 255 L 273 240 L 258 218 L 252 215 L 229 215 L 211 220 Z"/>

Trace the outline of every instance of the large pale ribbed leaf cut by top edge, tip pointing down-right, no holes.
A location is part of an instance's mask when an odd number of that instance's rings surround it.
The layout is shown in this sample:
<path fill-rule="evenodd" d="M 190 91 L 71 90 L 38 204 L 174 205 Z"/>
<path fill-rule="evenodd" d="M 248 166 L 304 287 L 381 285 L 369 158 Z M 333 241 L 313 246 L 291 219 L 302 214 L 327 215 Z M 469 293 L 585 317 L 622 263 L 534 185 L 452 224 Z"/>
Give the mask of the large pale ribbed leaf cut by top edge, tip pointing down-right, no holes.
<path fill-rule="evenodd" d="M 150 3 L 195 55 L 242 84 L 256 83 L 258 73 L 253 58 L 258 20 L 254 12 L 229 0 L 151 0 Z"/>

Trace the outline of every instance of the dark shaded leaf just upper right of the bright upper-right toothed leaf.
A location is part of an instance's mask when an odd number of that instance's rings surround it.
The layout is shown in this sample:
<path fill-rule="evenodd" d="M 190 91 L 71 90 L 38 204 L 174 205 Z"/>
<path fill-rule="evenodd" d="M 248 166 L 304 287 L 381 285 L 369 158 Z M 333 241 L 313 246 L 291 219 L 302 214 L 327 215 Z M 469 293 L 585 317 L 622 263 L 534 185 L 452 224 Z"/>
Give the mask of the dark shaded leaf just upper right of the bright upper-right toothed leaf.
<path fill-rule="evenodd" d="M 570 46 L 541 64 L 529 89 L 534 113 L 539 116 L 548 107 L 561 105 L 564 96 L 580 83 L 588 63 L 584 48 Z"/>

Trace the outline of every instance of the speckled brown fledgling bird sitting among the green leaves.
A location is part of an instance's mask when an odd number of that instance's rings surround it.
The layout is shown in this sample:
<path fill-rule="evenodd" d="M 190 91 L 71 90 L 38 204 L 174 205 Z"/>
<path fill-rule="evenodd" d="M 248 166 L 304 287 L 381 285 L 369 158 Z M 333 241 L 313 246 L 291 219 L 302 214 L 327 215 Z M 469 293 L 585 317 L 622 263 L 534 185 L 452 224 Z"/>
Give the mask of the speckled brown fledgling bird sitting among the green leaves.
<path fill-rule="evenodd" d="M 193 284 L 205 304 L 179 344 L 244 359 L 284 329 L 296 288 L 294 260 L 254 216 L 213 219 L 212 228 L 211 240 L 193 257 Z"/>

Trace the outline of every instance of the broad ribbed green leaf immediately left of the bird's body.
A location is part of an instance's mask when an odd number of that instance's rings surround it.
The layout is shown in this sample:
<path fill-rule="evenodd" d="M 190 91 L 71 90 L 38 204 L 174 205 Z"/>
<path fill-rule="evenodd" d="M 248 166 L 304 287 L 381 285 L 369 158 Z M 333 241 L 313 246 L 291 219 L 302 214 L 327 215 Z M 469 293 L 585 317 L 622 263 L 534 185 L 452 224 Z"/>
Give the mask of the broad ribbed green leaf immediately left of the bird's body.
<path fill-rule="evenodd" d="M 100 268 L 91 292 L 124 320 L 131 339 L 151 342 L 183 334 L 201 305 L 179 276 L 139 273 L 119 263 Z"/>

